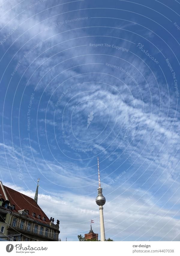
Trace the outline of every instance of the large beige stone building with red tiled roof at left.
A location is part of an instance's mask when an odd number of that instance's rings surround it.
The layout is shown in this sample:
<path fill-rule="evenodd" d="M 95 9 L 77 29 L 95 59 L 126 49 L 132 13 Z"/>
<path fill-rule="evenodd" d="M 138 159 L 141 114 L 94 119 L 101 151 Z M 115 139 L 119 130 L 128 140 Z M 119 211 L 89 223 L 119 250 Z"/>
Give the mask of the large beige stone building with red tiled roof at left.
<path fill-rule="evenodd" d="M 0 181 L 0 237 L 14 241 L 58 241 L 59 220 L 48 218 L 37 202 Z"/>

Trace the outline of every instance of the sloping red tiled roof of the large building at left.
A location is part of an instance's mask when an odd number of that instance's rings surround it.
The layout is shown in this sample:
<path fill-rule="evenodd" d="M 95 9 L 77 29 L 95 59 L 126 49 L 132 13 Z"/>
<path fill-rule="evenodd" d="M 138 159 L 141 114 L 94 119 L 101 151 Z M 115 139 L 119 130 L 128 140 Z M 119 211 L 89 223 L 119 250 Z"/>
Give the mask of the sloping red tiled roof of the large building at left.
<path fill-rule="evenodd" d="M 7 194 L 7 198 L 10 201 L 11 206 L 15 205 L 15 209 L 12 210 L 14 212 L 18 212 L 18 210 L 28 210 L 29 211 L 29 217 L 37 220 L 44 224 L 49 224 L 50 220 L 46 216 L 46 214 L 43 212 L 43 210 L 39 207 L 39 205 L 35 202 L 34 199 L 30 198 L 29 196 L 26 196 L 16 190 L 13 190 L 12 188 L 8 188 L 6 186 L 3 186 L 4 190 Z M 2 194 L 3 191 L 0 186 L 0 194 Z M 2 194 L 4 195 L 4 193 Z M 3 198 L 3 196 L 2 196 Z M 5 199 L 5 196 L 4 196 Z M 35 217 L 32 216 L 32 213 L 36 213 Z M 41 219 L 38 219 L 38 215 L 41 215 Z M 43 217 L 46 218 L 46 221 L 43 221 Z"/>

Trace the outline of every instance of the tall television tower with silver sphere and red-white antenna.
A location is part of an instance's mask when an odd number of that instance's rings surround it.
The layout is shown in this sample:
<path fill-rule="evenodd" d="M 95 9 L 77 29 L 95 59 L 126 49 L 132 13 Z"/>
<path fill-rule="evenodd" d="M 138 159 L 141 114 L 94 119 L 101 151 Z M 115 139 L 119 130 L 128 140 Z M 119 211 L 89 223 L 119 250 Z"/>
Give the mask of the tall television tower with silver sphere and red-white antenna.
<path fill-rule="evenodd" d="M 100 183 L 99 159 L 98 159 L 98 178 L 99 178 L 99 187 L 98 187 L 98 196 L 96 197 L 96 204 L 99 205 L 99 210 L 100 210 L 101 241 L 105 241 L 103 205 L 106 203 L 106 198 L 103 196 L 101 183 Z"/>

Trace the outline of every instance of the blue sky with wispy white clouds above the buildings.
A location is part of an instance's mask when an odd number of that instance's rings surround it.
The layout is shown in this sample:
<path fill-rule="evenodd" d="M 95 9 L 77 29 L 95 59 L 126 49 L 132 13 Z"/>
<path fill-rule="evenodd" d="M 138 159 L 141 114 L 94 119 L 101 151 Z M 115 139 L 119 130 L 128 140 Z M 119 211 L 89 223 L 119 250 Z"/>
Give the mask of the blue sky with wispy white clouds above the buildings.
<path fill-rule="evenodd" d="M 4 185 L 60 220 L 62 241 L 179 241 L 180 3 L 0 1 Z"/>

